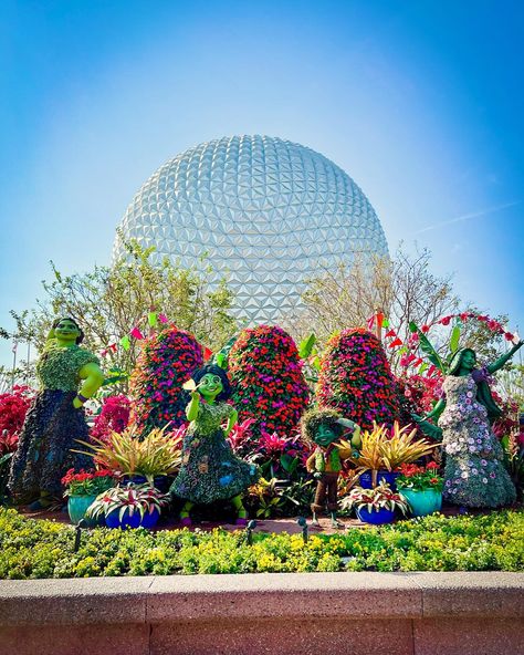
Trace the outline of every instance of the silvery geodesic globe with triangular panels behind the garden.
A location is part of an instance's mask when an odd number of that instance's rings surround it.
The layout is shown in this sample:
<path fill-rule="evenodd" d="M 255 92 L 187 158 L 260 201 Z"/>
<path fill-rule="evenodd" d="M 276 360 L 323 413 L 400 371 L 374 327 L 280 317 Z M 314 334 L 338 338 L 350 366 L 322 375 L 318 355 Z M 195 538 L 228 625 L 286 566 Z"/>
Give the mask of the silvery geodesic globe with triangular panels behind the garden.
<path fill-rule="evenodd" d="M 122 219 L 123 240 L 155 247 L 185 268 L 226 278 L 232 313 L 249 323 L 296 315 L 307 281 L 355 254 L 388 253 L 380 221 L 342 168 L 305 146 L 269 136 L 232 136 L 177 155 L 142 186 Z"/>

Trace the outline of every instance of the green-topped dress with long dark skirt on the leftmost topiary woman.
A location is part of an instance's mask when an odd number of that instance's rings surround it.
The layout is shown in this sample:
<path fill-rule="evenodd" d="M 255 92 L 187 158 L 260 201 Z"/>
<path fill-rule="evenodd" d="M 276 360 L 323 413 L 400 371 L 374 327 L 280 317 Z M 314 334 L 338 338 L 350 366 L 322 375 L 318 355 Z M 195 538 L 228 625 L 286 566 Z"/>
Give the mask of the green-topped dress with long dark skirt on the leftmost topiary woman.
<path fill-rule="evenodd" d="M 70 468 L 92 466 L 91 457 L 71 453 L 75 439 L 88 439 L 84 409 L 73 406 L 86 364 L 98 358 L 77 345 L 48 345 L 36 363 L 41 391 L 29 408 L 12 458 L 9 489 L 13 497 L 31 498 L 46 492 L 62 497 L 61 479 Z"/>

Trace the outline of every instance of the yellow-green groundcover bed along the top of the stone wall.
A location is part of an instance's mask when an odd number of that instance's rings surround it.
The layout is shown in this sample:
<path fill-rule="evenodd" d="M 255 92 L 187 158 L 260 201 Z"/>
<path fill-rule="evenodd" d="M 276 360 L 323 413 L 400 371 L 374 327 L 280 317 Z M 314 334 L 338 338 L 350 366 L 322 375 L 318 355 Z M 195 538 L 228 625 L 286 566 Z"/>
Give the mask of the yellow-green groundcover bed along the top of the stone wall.
<path fill-rule="evenodd" d="M 339 534 L 108 530 L 82 533 L 0 508 L 0 579 L 306 571 L 523 571 L 524 512 L 432 514 Z"/>

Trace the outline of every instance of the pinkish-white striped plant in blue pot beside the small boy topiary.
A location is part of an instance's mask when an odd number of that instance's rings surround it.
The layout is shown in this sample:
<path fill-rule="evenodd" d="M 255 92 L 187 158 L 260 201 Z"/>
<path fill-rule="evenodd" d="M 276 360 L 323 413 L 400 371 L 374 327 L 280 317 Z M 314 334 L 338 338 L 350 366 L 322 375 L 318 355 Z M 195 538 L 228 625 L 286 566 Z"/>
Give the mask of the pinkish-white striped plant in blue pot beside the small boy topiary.
<path fill-rule="evenodd" d="M 374 489 L 355 487 L 342 499 L 340 508 L 355 509 L 357 517 L 365 523 L 381 524 L 390 523 L 397 509 L 406 514 L 409 506 L 382 480 Z"/>

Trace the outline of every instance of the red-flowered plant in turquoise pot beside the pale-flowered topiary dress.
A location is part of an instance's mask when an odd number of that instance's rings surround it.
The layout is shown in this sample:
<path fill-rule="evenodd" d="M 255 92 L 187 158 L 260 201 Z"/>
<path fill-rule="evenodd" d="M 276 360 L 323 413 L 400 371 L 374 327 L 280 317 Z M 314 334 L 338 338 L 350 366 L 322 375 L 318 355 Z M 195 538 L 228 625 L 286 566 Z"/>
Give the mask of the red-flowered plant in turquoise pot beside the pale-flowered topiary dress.
<path fill-rule="evenodd" d="M 439 465 L 430 461 L 426 467 L 404 464 L 397 478 L 397 488 L 406 498 L 413 517 L 425 517 L 442 507 L 442 477 Z"/>

